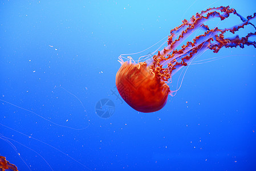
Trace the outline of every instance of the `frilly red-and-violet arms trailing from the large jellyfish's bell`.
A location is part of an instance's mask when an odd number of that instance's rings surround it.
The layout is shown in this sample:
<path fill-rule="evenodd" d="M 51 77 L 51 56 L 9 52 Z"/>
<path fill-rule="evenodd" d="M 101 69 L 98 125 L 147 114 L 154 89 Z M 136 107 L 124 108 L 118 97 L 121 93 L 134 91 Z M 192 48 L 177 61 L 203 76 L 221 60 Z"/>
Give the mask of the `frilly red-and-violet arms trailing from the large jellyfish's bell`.
<path fill-rule="evenodd" d="M 217 12 L 220 11 L 220 12 Z M 210 18 L 220 18 L 224 20 L 229 17 L 229 15 L 233 13 L 237 15 L 243 22 L 239 25 L 219 29 L 217 27 L 213 29 L 209 29 L 207 25 L 204 25 L 206 21 Z M 206 17 L 203 15 L 206 14 Z M 237 13 L 234 9 L 229 9 L 227 7 L 217 7 L 210 8 L 205 11 L 201 11 L 201 14 L 196 14 L 190 18 L 190 21 L 184 19 L 182 24 L 178 27 L 173 28 L 170 31 L 170 36 L 168 37 L 168 47 L 165 47 L 164 50 L 155 56 L 153 56 L 153 64 L 149 66 L 150 69 L 158 76 L 161 80 L 167 82 L 168 79 L 173 74 L 173 70 L 180 68 L 181 66 L 187 66 L 188 61 L 192 59 L 198 51 L 206 50 L 210 48 L 214 52 L 218 52 L 222 47 L 241 47 L 243 48 L 244 44 L 250 46 L 253 45 L 255 47 L 255 42 L 250 42 L 248 38 L 252 35 L 256 35 L 256 32 L 250 33 L 243 38 L 239 38 L 235 36 L 234 38 L 224 38 L 224 33 L 226 31 L 230 31 L 234 34 L 235 31 L 238 31 L 239 28 L 243 28 L 246 25 L 252 25 L 250 20 L 255 18 L 256 13 L 253 16 L 249 15 L 247 19 L 243 18 L 241 15 Z M 254 26 L 254 25 L 253 25 Z M 255 26 L 254 26 L 255 27 Z M 175 50 L 182 41 L 192 34 L 193 30 L 198 28 L 204 28 L 206 31 L 204 34 L 196 36 L 192 40 L 192 42 L 186 42 L 183 46 L 181 46 L 180 50 Z M 172 40 L 174 36 L 178 36 L 178 39 Z"/>

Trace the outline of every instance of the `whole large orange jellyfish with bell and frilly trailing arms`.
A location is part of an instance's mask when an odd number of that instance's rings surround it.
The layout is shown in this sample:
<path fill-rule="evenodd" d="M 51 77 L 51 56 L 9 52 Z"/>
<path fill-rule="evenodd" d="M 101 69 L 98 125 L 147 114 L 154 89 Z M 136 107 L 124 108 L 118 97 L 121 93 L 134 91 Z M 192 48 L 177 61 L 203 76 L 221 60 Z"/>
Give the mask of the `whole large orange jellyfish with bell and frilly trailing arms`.
<path fill-rule="evenodd" d="M 210 29 L 205 25 L 206 21 L 212 18 L 220 18 L 221 21 L 228 18 L 230 14 L 237 15 L 241 19 L 241 23 L 229 28 L 214 27 Z M 133 109 L 139 112 L 155 112 L 159 111 L 168 99 L 168 95 L 173 96 L 177 91 L 171 91 L 168 84 L 172 80 L 172 76 L 183 66 L 188 66 L 198 53 L 202 53 L 208 49 L 217 53 L 222 47 L 241 47 L 253 45 L 256 48 L 256 42 L 249 40 L 250 36 L 255 36 L 256 32 L 250 32 L 244 37 L 239 38 L 238 35 L 225 38 L 224 33 L 229 31 L 235 34 L 240 28 L 246 25 L 256 27 L 250 22 L 256 18 L 249 15 L 243 18 L 235 11 L 227 7 L 213 7 L 196 16 L 190 18 L 190 21 L 184 19 L 182 24 L 173 28 L 168 36 L 168 46 L 158 51 L 152 59 L 136 63 L 131 56 L 124 61 L 123 56 L 119 56 L 121 67 L 116 74 L 116 87 L 123 99 Z M 194 31 L 204 30 L 204 34 L 196 36 L 191 42 L 183 43 L 180 50 L 177 48 L 188 38 Z"/>

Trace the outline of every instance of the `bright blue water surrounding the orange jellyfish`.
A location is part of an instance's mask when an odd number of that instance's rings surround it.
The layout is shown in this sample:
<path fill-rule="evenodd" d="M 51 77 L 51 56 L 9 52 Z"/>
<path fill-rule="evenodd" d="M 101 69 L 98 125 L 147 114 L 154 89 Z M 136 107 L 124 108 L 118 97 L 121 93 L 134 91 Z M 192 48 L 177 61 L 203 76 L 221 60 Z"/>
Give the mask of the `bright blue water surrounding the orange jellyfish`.
<path fill-rule="evenodd" d="M 221 5 L 256 12 L 253 0 L 1 1 L 0 156 L 19 170 L 255 170 L 256 48 L 206 51 L 218 60 L 189 66 L 160 111 L 115 95 L 120 54 Z M 115 105 L 107 119 L 101 99 Z"/>

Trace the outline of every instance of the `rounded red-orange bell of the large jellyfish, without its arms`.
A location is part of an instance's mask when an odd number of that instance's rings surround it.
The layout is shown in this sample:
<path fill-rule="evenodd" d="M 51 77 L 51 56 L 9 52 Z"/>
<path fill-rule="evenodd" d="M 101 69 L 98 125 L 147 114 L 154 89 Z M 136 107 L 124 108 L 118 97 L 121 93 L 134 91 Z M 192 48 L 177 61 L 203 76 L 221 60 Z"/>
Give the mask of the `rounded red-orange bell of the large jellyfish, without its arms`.
<path fill-rule="evenodd" d="M 170 92 L 169 86 L 145 62 L 124 62 L 116 74 L 116 86 L 127 104 L 145 113 L 164 107 Z"/>

